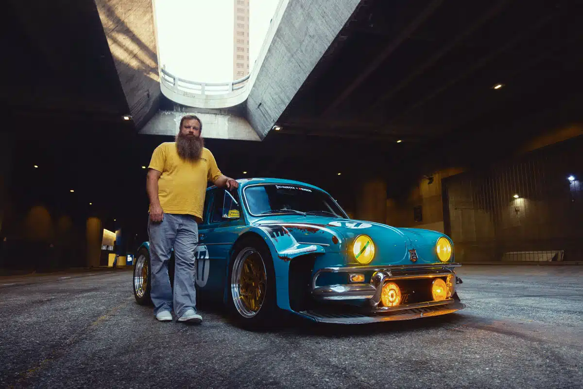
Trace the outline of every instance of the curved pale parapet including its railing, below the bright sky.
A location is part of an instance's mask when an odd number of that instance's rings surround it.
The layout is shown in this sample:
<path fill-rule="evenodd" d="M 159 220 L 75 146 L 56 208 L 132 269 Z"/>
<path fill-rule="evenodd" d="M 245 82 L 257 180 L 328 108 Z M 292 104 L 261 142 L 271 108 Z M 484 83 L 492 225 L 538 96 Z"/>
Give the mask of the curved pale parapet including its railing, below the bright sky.
<path fill-rule="evenodd" d="M 168 96 L 171 100 L 188 106 L 208 105 L 209 108 L 222 108 L 235 106 L 247 99 L 249 76 L 231 82 L 197 82 L 177 77 L 161 69 L 160 81 L 163 92 L 173 94 L 173 96 Z M 193 103 L 196 101 L 196 104 L 189 104 L 189 101 Z M 201 101 L 206 101 L 208 104 Z"/>

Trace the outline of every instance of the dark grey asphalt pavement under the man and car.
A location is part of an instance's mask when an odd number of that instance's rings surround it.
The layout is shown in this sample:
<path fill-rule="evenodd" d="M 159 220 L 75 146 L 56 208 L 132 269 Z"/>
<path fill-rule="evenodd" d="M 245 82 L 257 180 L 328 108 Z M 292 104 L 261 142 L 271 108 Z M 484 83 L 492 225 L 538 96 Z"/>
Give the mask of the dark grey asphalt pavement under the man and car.
<path fill-rule="evenodd" d="M 458 275 L 459 313 L 263 331 L 159 323 L 129 269 L 0 277 L 0 387 L 583 387 L 583 267 Z"/>

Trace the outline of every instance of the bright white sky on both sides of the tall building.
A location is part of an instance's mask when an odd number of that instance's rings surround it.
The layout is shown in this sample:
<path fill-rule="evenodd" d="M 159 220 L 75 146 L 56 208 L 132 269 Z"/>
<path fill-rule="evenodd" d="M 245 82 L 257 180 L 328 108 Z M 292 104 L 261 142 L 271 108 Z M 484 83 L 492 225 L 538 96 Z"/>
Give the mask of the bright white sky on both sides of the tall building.
<path fill-rule="evenodd" d="M 250 72 L 279 0 L 250 0 Z M 156 1 L 160 66 L 198 82 L 233 80 L 233 0 Z"/>

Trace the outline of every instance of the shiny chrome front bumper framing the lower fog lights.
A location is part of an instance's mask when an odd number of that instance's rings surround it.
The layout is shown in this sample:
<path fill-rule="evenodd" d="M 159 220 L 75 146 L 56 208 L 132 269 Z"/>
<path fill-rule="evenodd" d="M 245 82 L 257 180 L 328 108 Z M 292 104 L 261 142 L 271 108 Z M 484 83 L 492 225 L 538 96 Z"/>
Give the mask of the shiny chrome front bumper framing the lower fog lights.
<path fill-rule="evenodd" d="M 320 300 L 356 300 L 367 299 L 373 312 L 388 312 L 404 309 L 415 309 L 454 303 L 453 299 L 440 302 L 426 302 L 416 304 L 402 304 L 396 307 L 378 307 L 381 302 L 382 285 L 386 281 L 402 279 L 436 278 L 455 275 L 451 268 L 460 267 L 461 264 L 423 264 L 423 265 L 392 265 L 384 267 L 355 266 L 347 268 L 323 268 L 319 269 L 312 278 L 312 296 Z M 332 273 L 366 273 L 373 272 L 370 283 L 349 283 L 342 285 L 316 286 L 318 277 L 324 272 Z M 458 282 L 456 278 L 456 283 Z"/>

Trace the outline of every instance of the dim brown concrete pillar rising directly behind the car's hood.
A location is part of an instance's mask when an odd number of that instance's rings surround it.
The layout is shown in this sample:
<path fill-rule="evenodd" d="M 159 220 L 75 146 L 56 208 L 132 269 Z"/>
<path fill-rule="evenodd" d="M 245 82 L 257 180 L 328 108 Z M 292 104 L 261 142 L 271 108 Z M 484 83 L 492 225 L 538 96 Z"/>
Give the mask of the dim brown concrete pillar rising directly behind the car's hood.
<path fill-rule="evenodd" d="M 385 223 L 387 219 L 387 181 L 372 178 L 360 185 L 356 219 Z"/>

